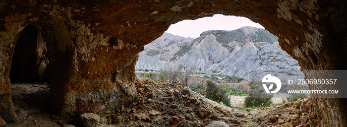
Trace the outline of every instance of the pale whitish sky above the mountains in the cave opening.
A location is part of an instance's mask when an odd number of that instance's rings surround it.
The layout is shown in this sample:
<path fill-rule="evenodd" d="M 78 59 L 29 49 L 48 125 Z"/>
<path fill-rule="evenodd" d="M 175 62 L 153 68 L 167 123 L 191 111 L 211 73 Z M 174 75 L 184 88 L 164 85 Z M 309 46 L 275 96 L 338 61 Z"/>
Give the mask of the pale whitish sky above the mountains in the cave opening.
<path fill-rule="evenodd" d="M 213 17 L 177 22 L 176 24 L 172 24 L 166 32 L 185 38 L 198 38 L 202 32 L 207 30 L 235 30 L 242 26 L 252 26 L 264 29 L 260 24 L 245 17 L 215 14 Z"/>

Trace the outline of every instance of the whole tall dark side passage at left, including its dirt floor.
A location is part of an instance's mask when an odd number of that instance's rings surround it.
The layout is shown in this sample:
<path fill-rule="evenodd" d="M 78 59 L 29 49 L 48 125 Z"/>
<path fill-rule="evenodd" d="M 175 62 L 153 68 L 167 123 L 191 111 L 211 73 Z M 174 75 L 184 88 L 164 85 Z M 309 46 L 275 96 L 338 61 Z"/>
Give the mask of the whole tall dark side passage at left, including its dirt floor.
<path fill-rule="evenodd" d="M 12 103 L 18 115 L 26 111 L 49 111 L 49 60 L 42 31 L 39 25 L 27 25 L 14 47 L 9 78 Z"/>

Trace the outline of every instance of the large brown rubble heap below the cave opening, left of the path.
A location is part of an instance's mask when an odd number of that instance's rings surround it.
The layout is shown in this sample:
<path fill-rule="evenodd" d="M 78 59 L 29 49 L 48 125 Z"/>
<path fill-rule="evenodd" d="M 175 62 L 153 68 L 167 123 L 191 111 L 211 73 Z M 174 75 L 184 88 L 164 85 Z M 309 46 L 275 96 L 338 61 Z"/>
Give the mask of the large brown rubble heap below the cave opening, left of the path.
<path fill-rule="evenodd" d="M 205 127 L 213 121 L 239 127 L 233 110 L 182 87 L 177 80 L 136 80 L 138 97 L 128 107 L 106 111 L 101 121 L 131 127 Z"/>

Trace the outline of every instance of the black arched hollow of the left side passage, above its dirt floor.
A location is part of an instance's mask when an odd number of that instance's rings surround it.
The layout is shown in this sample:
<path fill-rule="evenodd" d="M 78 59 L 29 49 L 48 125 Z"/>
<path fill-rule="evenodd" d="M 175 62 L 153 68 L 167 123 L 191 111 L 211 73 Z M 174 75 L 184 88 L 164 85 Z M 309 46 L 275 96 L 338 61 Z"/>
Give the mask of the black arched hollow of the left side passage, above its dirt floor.
<path fill-rule="evenodd" d="M 47 82 L 46 42 L 40 27 L 26 26 L 15 44 L 9 78 L 11 83 Z"/>

